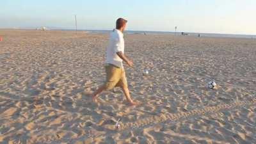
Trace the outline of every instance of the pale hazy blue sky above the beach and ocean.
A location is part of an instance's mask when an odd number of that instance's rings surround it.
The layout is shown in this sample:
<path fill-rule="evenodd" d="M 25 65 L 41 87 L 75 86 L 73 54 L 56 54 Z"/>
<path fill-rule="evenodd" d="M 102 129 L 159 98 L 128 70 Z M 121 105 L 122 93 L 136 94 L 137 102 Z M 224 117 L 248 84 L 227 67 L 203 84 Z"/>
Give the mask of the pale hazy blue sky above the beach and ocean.
<path fill-rule="evenodd" d="M 40 26 L 112 29 L 124 17 L 129 30 L 256 35 L 256 0 L 3 0 L 0 28 Z"/>

